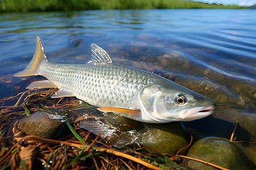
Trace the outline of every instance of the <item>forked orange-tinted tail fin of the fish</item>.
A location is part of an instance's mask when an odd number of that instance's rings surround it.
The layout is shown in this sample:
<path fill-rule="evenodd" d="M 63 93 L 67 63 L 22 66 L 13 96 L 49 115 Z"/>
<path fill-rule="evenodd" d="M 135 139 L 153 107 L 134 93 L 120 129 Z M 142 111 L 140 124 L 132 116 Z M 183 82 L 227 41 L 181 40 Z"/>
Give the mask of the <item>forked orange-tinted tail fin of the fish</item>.
<path fill-rule="evenodd" d="M 36 50 L 30 63 L 23 71 L 19 71 L 14 76 L 32 76 L 38 74 L 38 67 L 42 61 L 48 61 L 44 53 L 43 44 L 39 37 L 36 37 Z"/>

